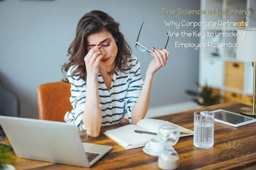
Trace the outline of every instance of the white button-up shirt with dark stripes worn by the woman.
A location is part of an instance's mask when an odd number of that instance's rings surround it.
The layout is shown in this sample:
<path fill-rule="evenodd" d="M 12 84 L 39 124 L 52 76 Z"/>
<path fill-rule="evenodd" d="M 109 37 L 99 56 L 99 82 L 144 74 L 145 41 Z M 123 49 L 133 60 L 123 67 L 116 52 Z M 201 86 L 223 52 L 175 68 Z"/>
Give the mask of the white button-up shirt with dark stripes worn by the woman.
<path fill-rule="evenodd" d="M 126 69 L 125 73 L 120 71 L 113 74 L 110 91 L 108 91 L 104 80 L 99 73 L 99 99 L 102 104 L 102 126 L 121 123 L 128 115 L 131 123 L 131 109 L 137 102 L 143 86 L 140 75 L 140 62 L 132 56 L 128 62 L 131 69 Z M 70 82 L 71 96 L 70 102 L 73 106 L 72 111 L 64 116 L 65 122 L 74 124 L 80 131 L 85 130 L 83 122 L 84 105 L 86 102 L 86 82 L 79 76 L 71 76 L 77 65 L 73 65 L 67 71 L 67 78 Z"/>

